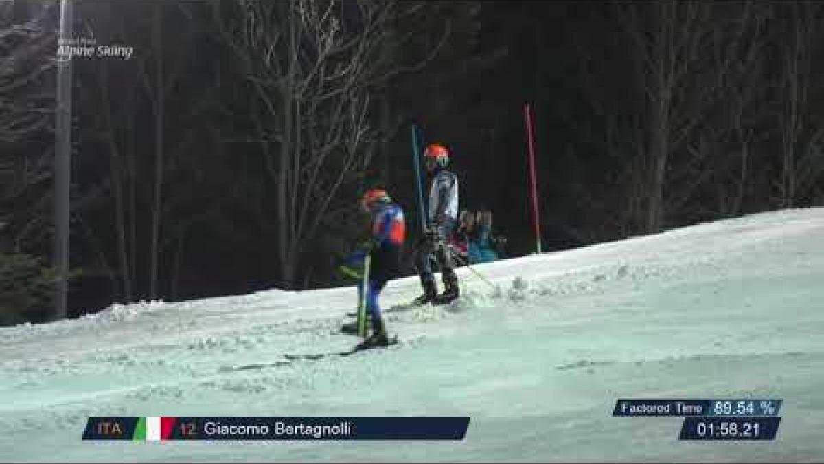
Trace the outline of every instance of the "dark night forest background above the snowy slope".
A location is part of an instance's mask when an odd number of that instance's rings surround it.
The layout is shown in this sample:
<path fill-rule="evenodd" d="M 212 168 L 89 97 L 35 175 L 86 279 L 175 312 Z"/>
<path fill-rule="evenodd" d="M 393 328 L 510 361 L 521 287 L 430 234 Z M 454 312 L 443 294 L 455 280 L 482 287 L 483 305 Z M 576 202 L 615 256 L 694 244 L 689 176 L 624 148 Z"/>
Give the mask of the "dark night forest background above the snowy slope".
<path fill-rule="evenodd" d="M 0 323 L 49 319 L 58 2 L 0 4 Z M 410 125 L 461 207 L 545 251 L 824 204 L 821 2 L 75 2 L 70 315 L 339 285 L 358 196 L 419 224 Z M 412 269 L 409 269 L 410 273 Z"/>

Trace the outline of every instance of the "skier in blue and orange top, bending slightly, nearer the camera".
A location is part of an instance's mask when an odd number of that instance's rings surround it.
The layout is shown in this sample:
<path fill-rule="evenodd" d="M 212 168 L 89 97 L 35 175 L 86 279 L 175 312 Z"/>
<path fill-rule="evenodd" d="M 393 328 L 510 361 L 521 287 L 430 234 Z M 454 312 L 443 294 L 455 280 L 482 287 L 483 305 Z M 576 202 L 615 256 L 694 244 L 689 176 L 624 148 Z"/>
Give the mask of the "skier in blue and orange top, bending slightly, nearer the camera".
<path fill-rule="evenodd" d="M 361 346 L 385 347 L 389 345 L 389 338 L 386 336 L 386 324 L 377 301 L 386 282 L 400 275 L 401 253 L 406 238 L 404 211 L 381 189 L 366 192 L 361 198 L 360 206 L 371 216 L 370 239 L 345 264 L 360 264 L 367 255 L 370 257 L 367 288 L 363 289 L 363 282 L 358 282 L 358 295 L 363 295 L 363 291 L 366 291 L 366 310 L 373 331 Z M 354 330 L 357 332 L 356 328 Z"/>

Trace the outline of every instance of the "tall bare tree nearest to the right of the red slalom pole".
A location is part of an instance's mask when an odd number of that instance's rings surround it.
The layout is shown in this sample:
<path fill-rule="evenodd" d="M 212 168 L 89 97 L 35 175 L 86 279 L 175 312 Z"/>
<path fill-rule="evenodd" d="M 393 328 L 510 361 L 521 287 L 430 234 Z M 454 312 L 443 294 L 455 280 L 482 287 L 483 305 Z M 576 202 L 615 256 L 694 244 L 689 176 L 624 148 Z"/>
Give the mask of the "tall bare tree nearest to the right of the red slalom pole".
<path fill-rule="evenodd" d="M 712 71 L 704 50 L 712 38 L 711 6 L 667 0 L 614 2 L 612 8 L 618 29 L 605 31 L 607 44 L 577 34 L 574 45 L 578 84 L 597 117 L 597 126 L 588 126 L 582 138 L 615 163 L 615 175 L 587 182 L 606 182 L 604 187 L 620 192 L 623 204 L 588 203 L 611 210 L 606 217 L 620 236 L 654 233 L 679 195 L 670 187 L 672 164 L 682 162 L 677 158 L 719 93 L 717 83 L 701 85 Z M 579 126 L 574 116 L 564 117 Z"/>

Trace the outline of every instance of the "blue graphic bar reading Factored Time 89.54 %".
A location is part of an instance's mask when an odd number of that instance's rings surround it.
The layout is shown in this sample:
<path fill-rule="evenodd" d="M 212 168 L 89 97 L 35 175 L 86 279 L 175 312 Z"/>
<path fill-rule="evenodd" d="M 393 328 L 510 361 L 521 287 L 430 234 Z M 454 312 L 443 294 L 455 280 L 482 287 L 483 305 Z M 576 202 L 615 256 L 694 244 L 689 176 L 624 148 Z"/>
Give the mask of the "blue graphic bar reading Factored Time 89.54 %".
<path fill-rule="evenodd" d="M 781 400 L 618 399 L 614 417 L 777 417 Z"/>

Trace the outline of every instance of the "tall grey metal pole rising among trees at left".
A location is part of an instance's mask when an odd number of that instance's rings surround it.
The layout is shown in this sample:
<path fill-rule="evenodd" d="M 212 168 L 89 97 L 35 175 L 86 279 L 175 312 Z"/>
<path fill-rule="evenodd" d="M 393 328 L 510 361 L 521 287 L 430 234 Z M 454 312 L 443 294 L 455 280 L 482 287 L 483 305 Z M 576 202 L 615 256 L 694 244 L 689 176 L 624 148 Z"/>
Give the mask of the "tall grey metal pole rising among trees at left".
<path fill-rule="evenodd" d="M 74 14 L 71 0 L 60 0 L 58 46 L 73 39 Z M 72 61 L 58 55 L 57 107 L 54 138 L 54 268 L 58 272 L 54 294 L 54 319 L 67 315 L 69 186 L 72 182 Z"/>

